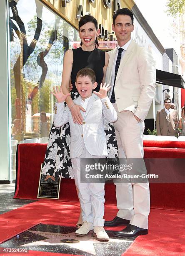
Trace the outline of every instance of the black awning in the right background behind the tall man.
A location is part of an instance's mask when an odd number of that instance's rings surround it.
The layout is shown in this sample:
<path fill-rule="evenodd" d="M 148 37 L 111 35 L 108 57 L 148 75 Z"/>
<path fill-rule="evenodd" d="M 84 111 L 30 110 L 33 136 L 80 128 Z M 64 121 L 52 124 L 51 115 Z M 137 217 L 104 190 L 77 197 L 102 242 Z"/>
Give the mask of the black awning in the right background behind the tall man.
<path fill-rule="evenodd" d="M 156 82 L 185 89 L 185 81 L 179 74 L 156 69 Z"/>

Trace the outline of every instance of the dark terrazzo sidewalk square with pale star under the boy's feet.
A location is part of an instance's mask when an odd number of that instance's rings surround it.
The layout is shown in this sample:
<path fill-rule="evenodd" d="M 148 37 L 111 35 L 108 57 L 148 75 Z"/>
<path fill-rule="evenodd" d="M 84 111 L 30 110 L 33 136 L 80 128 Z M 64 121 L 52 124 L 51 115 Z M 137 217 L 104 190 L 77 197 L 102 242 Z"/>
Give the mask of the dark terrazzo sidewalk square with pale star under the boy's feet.
<path fill-rule="evenodd" d="M 0 247 L 27 247 L 30 251 L 82 256 L 120 256 L 133 242 L 133 239 L 114 238 L 111 230 L 107 230 L 107 234 L 110 237 L 109 241 L 100 242 L 92 233 L 87 236 L 76 236 L 74 227 L 39 224 L 20 234 L 19 239 L 11 238 Z M 65 243 L 72 240 L 76 243 Z"/>

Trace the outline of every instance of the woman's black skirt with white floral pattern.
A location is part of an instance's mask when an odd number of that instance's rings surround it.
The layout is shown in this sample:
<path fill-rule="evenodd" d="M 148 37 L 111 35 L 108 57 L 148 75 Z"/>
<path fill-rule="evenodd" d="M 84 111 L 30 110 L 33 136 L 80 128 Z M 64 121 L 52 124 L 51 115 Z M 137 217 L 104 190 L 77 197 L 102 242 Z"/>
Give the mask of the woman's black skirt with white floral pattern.
<path fill-rule="evenodd" d="M 71 93 L 71 97 L 74 100 L 78 97 L 78 93 Z M 107 151 L 108 156 L 106 162 L 108 164 L 118 163 L 118 148 L 115 137 L 115 129 L 112 123 L 109 123 L 104 118 L 104 129 L 106 133 Z M 69 123 L 63 125 L 60 128 L 56 128 L 52 125 L 49 141 L 47 144 L 47 150 L 45 154 L 45 160 L 42 165 L 42 174 L 72 178 L 74 175 L 72 172 L 72 164 L 70 160 L 70 126 Z"/>

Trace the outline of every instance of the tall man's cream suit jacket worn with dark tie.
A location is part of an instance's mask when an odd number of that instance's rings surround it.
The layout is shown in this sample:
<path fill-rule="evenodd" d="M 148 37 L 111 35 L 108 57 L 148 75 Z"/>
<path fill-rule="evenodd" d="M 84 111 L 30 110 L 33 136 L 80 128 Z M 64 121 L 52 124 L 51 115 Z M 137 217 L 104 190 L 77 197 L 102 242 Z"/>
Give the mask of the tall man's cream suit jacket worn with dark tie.
<path fill-rule="evenodd" d="M 110 55 L 105 82 L 111 84 L 112 67 L 117 48 Z M 155 96 L 155 60 L 149 49 L 131 41 L 124 56 L 115 81 L 115 99 L 119 112 L 132 111 L 145 120 Z"/>

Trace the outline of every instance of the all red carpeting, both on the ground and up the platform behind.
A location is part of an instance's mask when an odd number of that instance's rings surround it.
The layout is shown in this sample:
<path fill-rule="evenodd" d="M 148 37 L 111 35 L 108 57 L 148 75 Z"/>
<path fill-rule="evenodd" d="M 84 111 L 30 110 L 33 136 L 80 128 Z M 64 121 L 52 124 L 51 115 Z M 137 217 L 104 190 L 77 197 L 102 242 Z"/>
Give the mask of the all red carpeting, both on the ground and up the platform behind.
<path fill-rule="evenodd" d="M 180 144 L 169 142 L 168 145 L 161 145 L 157 143 L 154 148 L 150 144 L 144 142 L 145 158 L 166 158 L 165 161 L 168 161 L 168 158 L 184 158 L 185 156 L 184 145 L 181 145 L 181 148 L 175 148 Z M 159 146 L 166 148 L 159 148 Z M 37 199 L 40 164 L 44 159 L 45 149 L 45 144 L 21 144 L 19 146 L 18 187 L 14 198 Z M 156 166 L 156 168 L 161 168 L 160 170 L 163 171 L 165 162 L 163 166 Z M 69 191 L 70 193 L 67 193 Z M 155 209 L 151 209 L 149 216 L 149 234 L 136 238 L 124 255 L 185 255 L 184 191 L 184 184 L 150 184 L 151 207 Z M 40 200 L 0 215 L 0 230 L 2 230 L 0 241 L 5 241 L 38 223 L 74 226 L 79 215 L 77 200 L 74 180 L 62 179 L 59 201 Z M 109 220 L 114 218 L 117 212 L 114 184 L 105 185 L 105 200 L 105 220 Z M 122 227 L 115 228 L 115 230 L 118 229 Z M 34 253 L 37 252 L 29 254 L 44 255 L 42 252 Z M 55 254 L 58 253 L 45 253 L 45 255 Z"/>

